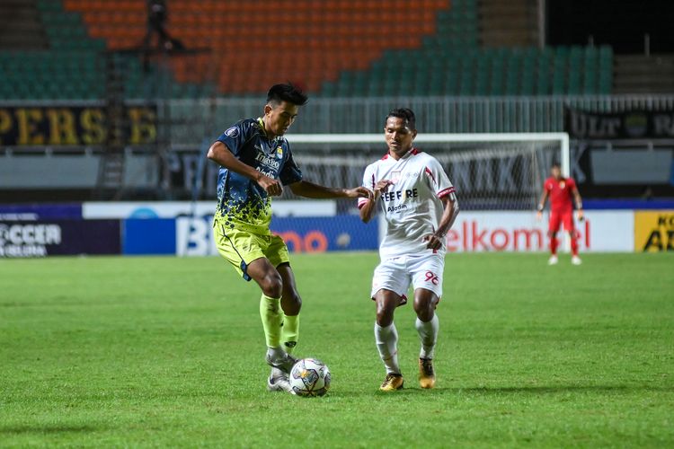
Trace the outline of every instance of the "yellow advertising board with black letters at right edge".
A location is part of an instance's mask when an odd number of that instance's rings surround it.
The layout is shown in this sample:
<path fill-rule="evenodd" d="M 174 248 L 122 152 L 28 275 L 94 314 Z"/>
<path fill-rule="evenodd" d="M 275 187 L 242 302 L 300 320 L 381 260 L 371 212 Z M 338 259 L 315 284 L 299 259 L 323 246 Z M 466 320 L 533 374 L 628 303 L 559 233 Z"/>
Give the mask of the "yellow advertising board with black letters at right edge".
<path fill-rule="evenodd" d="M 674 210 L 634 211 L 634 251 L 674 251 Z"/>

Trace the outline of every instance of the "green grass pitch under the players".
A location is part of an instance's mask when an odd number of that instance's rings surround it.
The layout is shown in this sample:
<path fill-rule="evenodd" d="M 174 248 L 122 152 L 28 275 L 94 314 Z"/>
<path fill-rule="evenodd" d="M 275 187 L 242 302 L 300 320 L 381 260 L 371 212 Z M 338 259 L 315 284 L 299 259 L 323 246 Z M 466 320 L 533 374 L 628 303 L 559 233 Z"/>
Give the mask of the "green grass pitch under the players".
<path fill-rule="evenodd" d="M 259 293 L 217 258 L 0 261 L 0 446 L 674 446 L 674 255 L 447 258 L 438 388 L 377 392 L 374 253 L 296 255 L 298 355 L 324 398 L 265 390 Z"/>

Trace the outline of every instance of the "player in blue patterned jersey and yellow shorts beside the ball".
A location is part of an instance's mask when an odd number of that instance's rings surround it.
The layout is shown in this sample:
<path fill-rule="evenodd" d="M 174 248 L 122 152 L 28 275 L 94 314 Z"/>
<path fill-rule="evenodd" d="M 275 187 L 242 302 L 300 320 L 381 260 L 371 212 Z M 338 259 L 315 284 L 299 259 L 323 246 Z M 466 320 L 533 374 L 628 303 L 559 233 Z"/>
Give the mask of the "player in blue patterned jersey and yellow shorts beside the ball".
<path fill-rule="evenodd" d="M 288 248 L 270 232 L 271 197 L 289 186 L 307 198 L 372 198 L 363 187 L 332 189 L 302 178 L 284 135 L 306 100 L 292 84 L 276 84 L 261 118 L 237 122 L 208 149 L 208 159 L 220 164 L 213 222 L 217 251 L 245 280 L 253 279 L 262 289 L 260 315 L 271 366 L 270 391 L 290 391 L 288 373 L 297 361 L 291 353 L 297 345 L 302 305 Z"/>

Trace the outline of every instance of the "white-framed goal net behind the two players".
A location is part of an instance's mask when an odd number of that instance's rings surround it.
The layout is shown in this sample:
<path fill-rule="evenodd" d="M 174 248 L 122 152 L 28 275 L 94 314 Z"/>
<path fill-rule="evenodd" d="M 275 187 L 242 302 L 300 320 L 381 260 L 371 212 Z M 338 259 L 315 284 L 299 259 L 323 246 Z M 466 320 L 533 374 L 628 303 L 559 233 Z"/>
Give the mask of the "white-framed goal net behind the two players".
<path fill-rule="evenodd" d="M 365 167 L 386 154 L 383 134 L 289 135 L 288 141 L 306 180 L 327 186 L 359 186 Z M 462 210 L 534 210 L 551 164 L 569 174 L 565 133 L 420 134 L 414 146 L 439 160 Z"/>

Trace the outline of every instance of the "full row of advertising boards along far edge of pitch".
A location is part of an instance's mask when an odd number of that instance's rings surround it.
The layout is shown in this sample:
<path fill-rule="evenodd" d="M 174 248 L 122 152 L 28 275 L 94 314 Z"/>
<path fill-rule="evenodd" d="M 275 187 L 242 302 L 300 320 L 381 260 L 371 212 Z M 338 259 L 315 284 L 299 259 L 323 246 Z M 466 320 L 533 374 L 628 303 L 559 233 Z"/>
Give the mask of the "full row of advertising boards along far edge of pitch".
<path fill-rule="evenodd" d="M 664 205 L 667 206 L 667 205 Z M 674 207 L 588 210 L 581 251 L 674 251 Z M 292 252 L 375 251 L 382 221 L 339 215 L 333 201 L 278 201 L 272 231 Z M 0 206 L 0 257 L 75 254 L 216 255 L 213 203 L 84 203 Z M 546 250 L 546 224 L 531 212 L 462 212 L 449 252 Z"/>

